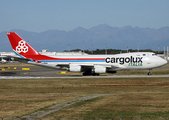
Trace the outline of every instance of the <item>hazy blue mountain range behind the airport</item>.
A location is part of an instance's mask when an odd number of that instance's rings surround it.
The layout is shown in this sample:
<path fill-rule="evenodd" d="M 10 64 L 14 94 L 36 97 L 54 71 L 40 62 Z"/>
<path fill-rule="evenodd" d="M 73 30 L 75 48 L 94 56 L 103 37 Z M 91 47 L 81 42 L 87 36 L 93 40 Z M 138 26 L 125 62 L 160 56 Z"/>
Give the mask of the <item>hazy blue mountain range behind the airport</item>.
<path fill-rule="evenodd" d="M 125 50 L 137 49 L 139 40 L 140 49 L 160 50 L 169 46 L 169 27 L 159 29 L 140 28 L 125 26 L 122 28 L 111 27 L 101 24 L 90 29 L 77 27 L 71 31 L 48 30 L 41 33 L 24 31 L 20 29 L 11 30 L 19 34 L 24 40 L 36 50 L 48 49 L 49 51 L 63 51 L 71 49 L 104 49 L 107 44 L 109 49 Z M 12 51 L 6 31 L 0 33 L 0 51 Z"/>

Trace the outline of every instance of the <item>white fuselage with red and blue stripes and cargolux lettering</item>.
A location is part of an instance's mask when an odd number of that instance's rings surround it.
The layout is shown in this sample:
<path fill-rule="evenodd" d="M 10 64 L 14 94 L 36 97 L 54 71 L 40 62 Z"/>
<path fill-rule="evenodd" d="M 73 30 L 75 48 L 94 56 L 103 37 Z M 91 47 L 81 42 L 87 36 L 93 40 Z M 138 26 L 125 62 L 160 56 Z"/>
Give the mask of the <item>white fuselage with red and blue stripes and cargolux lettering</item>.
<path fill-rule="evenodd" d="M 29 62 L 51 68 L 60 68 L 57 65 L 76 64 L 80 66 L 105 66 L 110 71 L 117 70 L 143 70 L 161 67 L 167 61 L 152 52 L 134 52 L 116 55 L 64 55 L 50 56 L 64 60 L 39 60 L 41 63 Z M 80 59 L 80 60 L 79 60 Z M 87 60 L 86 60 L 87 59 Z M 91 59 L 91 60 L 90 60 Z M 98 60 L 93 60 L 98 59 Z M 100 59 L 100 60 L 99 60 Z M 63 68 L 63 67 L 62 67 Z"/>

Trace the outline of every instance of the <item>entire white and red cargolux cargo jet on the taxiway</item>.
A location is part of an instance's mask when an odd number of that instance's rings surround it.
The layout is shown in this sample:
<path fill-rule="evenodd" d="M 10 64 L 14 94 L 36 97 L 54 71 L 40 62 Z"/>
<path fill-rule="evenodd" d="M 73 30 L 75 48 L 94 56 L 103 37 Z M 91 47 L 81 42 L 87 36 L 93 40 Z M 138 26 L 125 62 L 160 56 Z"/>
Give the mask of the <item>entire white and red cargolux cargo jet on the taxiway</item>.
<path fill-rule="evenodd" d="M 167 61 L 152 52 L 134 52 L 116 55 L 41 55 L 15 32 L 7 36 L 13 51 L 19 57 L 15 60 L 28 64 L 83 72 L 83 75 L 116 73 L 118 70 L 151 70 L 167 64 Z"/>

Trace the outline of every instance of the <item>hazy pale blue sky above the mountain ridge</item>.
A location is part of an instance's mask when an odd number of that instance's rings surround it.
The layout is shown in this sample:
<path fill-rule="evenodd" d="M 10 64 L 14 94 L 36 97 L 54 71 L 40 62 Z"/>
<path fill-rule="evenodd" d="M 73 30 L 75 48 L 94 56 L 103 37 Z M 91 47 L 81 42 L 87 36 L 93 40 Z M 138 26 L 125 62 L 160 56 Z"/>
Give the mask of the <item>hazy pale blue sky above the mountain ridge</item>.
<path fill-rule="evenodd" d="M 0 32 L 169 26 L 169 0 L 0 0 Z"/>

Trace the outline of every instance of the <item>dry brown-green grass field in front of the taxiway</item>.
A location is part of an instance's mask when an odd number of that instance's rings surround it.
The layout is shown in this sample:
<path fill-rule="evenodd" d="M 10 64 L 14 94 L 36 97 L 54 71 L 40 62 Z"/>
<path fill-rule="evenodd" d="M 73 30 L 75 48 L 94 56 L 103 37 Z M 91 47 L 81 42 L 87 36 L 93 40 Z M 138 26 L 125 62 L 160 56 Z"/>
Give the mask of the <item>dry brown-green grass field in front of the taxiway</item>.
<path fill-rule="evenodd" d="M 89 94 L 44 118 L 112 118 L 169 114 L 169 78 L 0 80 L 0 117 L 24 116 Z"/>

